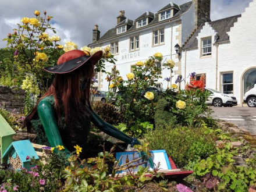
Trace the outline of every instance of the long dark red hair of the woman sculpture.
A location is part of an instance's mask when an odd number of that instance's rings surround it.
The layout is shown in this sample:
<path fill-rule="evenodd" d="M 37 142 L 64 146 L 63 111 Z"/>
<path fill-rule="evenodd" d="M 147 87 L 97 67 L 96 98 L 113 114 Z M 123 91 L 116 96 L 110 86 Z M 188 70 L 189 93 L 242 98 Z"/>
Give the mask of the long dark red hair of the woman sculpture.
<path fill-rule="evenodd" d="M 31 132 L 30 120 L 37 115 L 38 103 L 45 97 L 50 95 L 55 99 L 55 112 L 60 122 L 62 115 L 65 115 L 65 123 L 72 127 L 76 125 L 76 117 L 87 115 L 85 105 L 91 109 L 90 99 L 90 83 L 94 76 L 94 63 L 87 62 L 83 66 L 70 73 L 55 74 L 55 79 L 48 91 L 42 95 L 37 101 L 33 111 L 26 117 L 23 127 L 27 127 L 27 131 Z M 84 91 L 80 90 L 80 79 L 86 77 L 88 83 Z M 77 116 L 78 115 L 78 116 Z"/>

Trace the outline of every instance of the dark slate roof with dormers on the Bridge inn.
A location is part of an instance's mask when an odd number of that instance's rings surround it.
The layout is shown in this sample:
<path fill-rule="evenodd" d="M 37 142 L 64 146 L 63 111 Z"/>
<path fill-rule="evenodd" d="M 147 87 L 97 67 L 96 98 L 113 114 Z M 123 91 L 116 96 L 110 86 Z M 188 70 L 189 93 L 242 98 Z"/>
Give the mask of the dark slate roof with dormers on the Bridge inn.
<path fill-rule="evenodd" d="M 189 9 L 191 5 L 192 5 L 192 1 L 187 2 L 187 3 L 183 3 L 182 5 L 179 5 L 179 7 L 180 7 L 179 11 L 178 11 L 172 18 L 170 18 L 170 19 L 179 17 L 180 15 L 182 15 L 182 13 L 186 12 L 187 9 Z M 145 14 L 145 13 L 144 13 L 144 14 Z M 143 14 L 143 15 L 144 15 L 144 14 Z M 154 13 L 153 13 L 153 14 L 154 14 Z M 141 16 L 143 16 L 143 15 L 141 15 Z M 141 16 L 140 16 L 140 17 L 141 17 Z M 154 14 L 154 16 L 155 16 L 154 19 L 153 19 L 150 23 L 148 23 L 147 26 L 140 27 L 140 29 L 144 29 L 145 27 L 149 27 L 149 26 L 151 26 L 152 24 L 157 24 L 157 23 L 161 23 L 161 22 L 166 22 L 166 21 L 167 21 L 167 20 L 165 20 L 165 21 L 159 21 L 159 19 L 158 19 L 158 14 Z M 140 17 L 138 17 L 138 18 L 140 18 Z M 138 19 L 138 18 L 137 18 L 137 19 Z M 130 21 L 131 21 L 131 20 L 130 20 Z M 124 22 L 124 21 L 123 21 L 123 22 Z M 122 23 L 122 22 L 121 22 L 121 23 Z M 118 26 L 120 26 L 121 23 L 119 23 Z M 122 24 L 124 24 L 124 23 L 122 23 Z M 127 33 L 127 32 L 131 32 L 131 31 L 134 31 L 134 30 L 136 30 L 136 24 L 133 24 L 133 26 L 132 26 L 129 30 L 127 30 L 126 33 Z M 125 35 L 126 33 L 122 33 L 122 35 Z M 118 36 L 118 35 L 120 35 L 120 34 L 116 34 L 116 28 L 112 28 L 112 29 L 109 29 L 108 31 L 106 31 L 106 33 L 105 33 L 104 35 L 102 35 L 102 37 L 99 38 L 98 41 L 103 41 L 103 40 L 106 40 L 106 39 L 108 39 L 108 38 L 114 38 L 114 37 L 116 37 L 116 36 Z M 97 42 L 98 42 L 98 41 L 97 41 Z M 94 42 L 93 42 L 92 44 L 94 44 Z"/>

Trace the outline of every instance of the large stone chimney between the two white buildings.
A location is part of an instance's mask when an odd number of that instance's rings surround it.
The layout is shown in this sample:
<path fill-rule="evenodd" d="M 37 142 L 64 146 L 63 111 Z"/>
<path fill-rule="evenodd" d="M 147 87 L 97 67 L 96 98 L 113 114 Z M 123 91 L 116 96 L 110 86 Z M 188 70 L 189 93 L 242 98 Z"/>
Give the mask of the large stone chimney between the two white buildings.
<path fill-rule="evenodd" d="M 195 27 L 211 22 L 211 0 L 193 0 L 195 3 Z"/>

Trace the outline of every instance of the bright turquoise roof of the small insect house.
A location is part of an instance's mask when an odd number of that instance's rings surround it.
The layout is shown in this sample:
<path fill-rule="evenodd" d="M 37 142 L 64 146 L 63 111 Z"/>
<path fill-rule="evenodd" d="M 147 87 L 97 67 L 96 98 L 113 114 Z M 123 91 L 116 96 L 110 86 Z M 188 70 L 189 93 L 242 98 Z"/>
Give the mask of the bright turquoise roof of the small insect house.
<path fill-rule="evenodd" d="M 22 163 L 29 161 L 26 160 L 27 156 L 29 156 L 30 158 L 35 157 L 35 159 L 39 159 L 37 152 L 35 152 L 35 149 L 29 140 L 13 141 L 3 154 L 3 158 L 7 157 L 7 155 L 13 148 L 17 152 L 17 155 L 19 156 Z"/>

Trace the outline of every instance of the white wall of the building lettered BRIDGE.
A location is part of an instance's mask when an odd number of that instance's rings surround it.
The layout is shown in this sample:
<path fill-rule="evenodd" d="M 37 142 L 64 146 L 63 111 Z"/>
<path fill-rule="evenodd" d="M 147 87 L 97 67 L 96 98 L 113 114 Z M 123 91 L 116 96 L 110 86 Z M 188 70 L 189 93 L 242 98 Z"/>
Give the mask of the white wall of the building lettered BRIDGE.
<path fill-rule="evenodd" d="M 172 25 L 171 25 L 172 24 Z M 152 47 L 152 31 L 155 29 L 162 29 L 162 27 L 165 27 L 165 44 L 159 45 L 156 47 Z M 120 75 L 123 77 L 124 80 L 127 80 L 126 74 L 130 73 L 131 65 L 135 65 L 137 61 L 145 61 L 148 59 L 149 56 L 154 55 L 156 52 L 160 52 L 163 54 L 163 61 L 166 59 L 170 59 L 170 52 L 172 50 L 172 55 L 175 55 L 176 52 L 174 50 L 174 45 L 178 43 L 176 40 L 176 35 L 178 33 L 176 32 L 177 27 L 179 25 L 176 24 L 176 22 L 168 23 L 165 25 L 158 25 L 151 27 L 150 29 L 140 31 L 140 32 L 134 32 L 134 35 L 140 35 L 140 50 L 139 51 L 132 51 L 129 52 L 129 46 L 130 46 L 130 37 L 133 37 L 133 34 L 127 34 L 124 37 L 116 38 L 116 40 L 119 40 L 119 54 L 115 55 L 114 58 L 117 59 L 116 61 L 116 67 L 120 72 Z M 173 31 L 173 32 L 172 32 Z M 172 34 L 172 40 L 171 35 Z M 111 40 L 111 42 L 115 42 L 115 40 Z M 171 45 L 172 44 L 172 45 Z M 102 47 L 106 47 L 107 45 L 110 46 L 110 42 L 104 42 Z M 175 57 L 172 57 L 172 59 L 177 62 L 178 60 Z M 113 67 L 112 63 L 105 63 L 105 70 L 106 72 L 111 72 L 111 69 Z M 106 91 L 108 90 L 108 82 L 105 80 L 106 74 L 103 74 L 102 76 L 102 90 Z M 170 70 L 163 70 L 162 72 L 162 79 L 159 79 L 157 83 L 162 83 L 162 87 L 167 87 L 167 82 L 163 81 L 165 77 L 170 77 Z M 173 77 L 174 78 L 174 77 Z"/>

